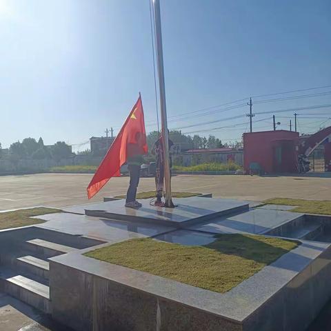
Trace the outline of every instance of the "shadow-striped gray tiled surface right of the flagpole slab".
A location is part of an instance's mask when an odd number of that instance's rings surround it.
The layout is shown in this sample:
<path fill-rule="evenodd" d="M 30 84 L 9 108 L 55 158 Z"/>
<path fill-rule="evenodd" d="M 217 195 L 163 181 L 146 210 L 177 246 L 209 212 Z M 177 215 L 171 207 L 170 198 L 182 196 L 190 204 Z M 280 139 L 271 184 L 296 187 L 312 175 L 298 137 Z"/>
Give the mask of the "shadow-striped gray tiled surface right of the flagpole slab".
<path fill-rule="evenodd" d="M 302 217 L 297 212 L 283 210 L 253 209 L 232 217 L 219 217 L 202 225 L 192 225 L 191 230 L 213 233 L 243 233 L 262 234 L 283 223 Z"/>

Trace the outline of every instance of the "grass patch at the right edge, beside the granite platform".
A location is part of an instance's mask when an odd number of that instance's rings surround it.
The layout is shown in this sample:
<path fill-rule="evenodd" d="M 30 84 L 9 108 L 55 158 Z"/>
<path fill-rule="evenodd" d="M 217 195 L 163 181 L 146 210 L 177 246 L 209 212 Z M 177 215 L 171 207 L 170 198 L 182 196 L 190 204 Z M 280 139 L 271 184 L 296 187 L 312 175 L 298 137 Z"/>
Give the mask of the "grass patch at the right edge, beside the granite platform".
<path fill-rule="evenodd" d="M 296 205 L 291 212 L 303 212 L 305 214 L 331 215 L 331 201 L 303 200 L 274 198 L 263 201 L 263 205 Z"/>

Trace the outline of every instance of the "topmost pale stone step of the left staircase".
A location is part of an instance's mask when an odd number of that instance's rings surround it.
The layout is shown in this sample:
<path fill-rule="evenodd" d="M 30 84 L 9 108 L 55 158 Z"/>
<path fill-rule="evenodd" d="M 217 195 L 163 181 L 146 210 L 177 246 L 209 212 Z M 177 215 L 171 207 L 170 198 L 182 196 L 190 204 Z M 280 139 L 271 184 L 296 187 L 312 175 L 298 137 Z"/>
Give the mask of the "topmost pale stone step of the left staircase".
<path fill-rule="evenodd" d="M 52 243 L 43 239 L 31 239 L 26 241 L 26 245 L 29 250 L 37 252 L 43 257 L 56 257 L 57 255 L 74 252 L 77 248 L 73 248 L 66 245 L 60 245 L 59 243 Z"/>

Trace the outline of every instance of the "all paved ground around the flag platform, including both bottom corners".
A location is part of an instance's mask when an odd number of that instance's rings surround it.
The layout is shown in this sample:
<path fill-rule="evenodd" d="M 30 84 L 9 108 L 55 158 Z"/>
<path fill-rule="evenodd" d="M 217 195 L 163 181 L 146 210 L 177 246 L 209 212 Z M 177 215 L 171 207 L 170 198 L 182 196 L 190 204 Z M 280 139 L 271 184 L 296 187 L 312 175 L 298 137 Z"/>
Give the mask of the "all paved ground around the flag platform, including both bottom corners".
<path fill-rule="evenodd" d="M 87 203 L 86 186 L 91 174 L 33 174 L 0 177 L 0 210 L 33 205 L 63 207 Z M 123 194 L 128 177 L 112 179 L 91 202 L 104 196 Z M 172 179 L 173 190 L 211 192 L 214 197 L 262 201 L 272 197 L 331 200 L 331 178 L 250 177 L 181 175 Z M 154 190 L 154 179 L 141 179 L 139 190 Z M 330 303 L 309 331 L 331 330 Z M 60 325 L 48 320 L 28 305 L 0 293 L 0 331 L 59 331 Z"/>

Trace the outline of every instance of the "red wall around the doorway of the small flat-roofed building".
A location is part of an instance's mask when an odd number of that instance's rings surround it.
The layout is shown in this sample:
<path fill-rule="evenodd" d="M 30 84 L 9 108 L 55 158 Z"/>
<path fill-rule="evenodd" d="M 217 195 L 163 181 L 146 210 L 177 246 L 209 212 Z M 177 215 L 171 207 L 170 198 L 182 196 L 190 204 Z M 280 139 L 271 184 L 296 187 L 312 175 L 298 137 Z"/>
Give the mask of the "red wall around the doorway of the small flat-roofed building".
<path fill-rule="evenodd" d="M 274 147 L 277 141 L 292 140 L 299 145 L 299 133 L 276 130 L 265 132 L 249 132 L 243 134 L 243 167 L 250 171 L 250 163 L 259 163 L 266 173 L 274 172 Z M 295 159 L 292 155 L 292 160 Z"/>

